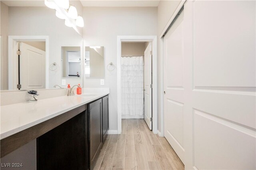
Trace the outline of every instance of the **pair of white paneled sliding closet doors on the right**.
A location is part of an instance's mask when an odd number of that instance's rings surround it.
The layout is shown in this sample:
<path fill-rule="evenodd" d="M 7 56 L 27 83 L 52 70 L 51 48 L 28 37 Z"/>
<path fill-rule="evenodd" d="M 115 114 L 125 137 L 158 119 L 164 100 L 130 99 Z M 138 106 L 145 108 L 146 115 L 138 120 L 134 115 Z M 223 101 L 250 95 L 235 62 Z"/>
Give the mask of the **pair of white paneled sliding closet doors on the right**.
<path fill-rule="evenodd" d="M 256 2 L 183 13 L 164 36 L 164 136 L 186 169 L 256 169 Z"/>

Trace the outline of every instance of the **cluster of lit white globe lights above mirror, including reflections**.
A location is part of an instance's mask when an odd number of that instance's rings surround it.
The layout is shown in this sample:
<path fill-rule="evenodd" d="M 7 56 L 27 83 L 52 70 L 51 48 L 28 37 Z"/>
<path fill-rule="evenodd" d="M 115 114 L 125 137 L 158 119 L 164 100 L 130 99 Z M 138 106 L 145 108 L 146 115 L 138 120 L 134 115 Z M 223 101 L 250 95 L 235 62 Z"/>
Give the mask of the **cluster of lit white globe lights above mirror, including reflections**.
<path fill-rule="evenodd" d="M 56 10 L 56 17 L 65 20 L 68 27 L 84 27 L 84 19 L 78 15 L 76 7 L 69 4 L 69 0 L 44 0 L 44 4 Z"/>

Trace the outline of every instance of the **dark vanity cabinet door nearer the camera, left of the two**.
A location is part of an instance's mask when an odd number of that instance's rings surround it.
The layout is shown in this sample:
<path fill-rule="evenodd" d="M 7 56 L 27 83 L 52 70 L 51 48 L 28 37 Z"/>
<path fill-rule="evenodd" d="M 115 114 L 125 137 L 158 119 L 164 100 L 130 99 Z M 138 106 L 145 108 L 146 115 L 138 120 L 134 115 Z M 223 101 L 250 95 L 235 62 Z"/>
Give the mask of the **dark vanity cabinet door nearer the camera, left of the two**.
<path fill-rule="evenodd" d="M 98 150 L 102 145 L 102 99 L 88 105 L 90 120 L 90 163 L 97 158 Z"/>

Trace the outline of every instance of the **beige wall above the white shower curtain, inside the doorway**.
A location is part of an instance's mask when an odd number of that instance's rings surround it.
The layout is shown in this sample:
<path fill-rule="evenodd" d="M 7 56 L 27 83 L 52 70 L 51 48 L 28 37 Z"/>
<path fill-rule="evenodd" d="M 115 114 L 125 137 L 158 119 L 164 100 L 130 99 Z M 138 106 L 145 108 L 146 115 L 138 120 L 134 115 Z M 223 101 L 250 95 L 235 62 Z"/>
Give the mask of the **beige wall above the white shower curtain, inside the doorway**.
<path fill-rule="evenodd" d="M 121 55 L 144 55 L 145 43 L 122 43 Z"/>

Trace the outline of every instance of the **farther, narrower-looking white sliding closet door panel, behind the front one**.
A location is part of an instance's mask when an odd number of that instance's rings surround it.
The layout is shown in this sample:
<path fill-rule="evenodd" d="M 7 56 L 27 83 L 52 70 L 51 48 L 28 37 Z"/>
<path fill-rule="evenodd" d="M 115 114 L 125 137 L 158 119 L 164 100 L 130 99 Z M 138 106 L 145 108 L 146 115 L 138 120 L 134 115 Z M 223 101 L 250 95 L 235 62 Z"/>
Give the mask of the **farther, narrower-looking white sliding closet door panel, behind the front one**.
<path fill-rule="evenodd" d="M 184 160 L 184 13 L 164 36 L 164 136 Z"/>

